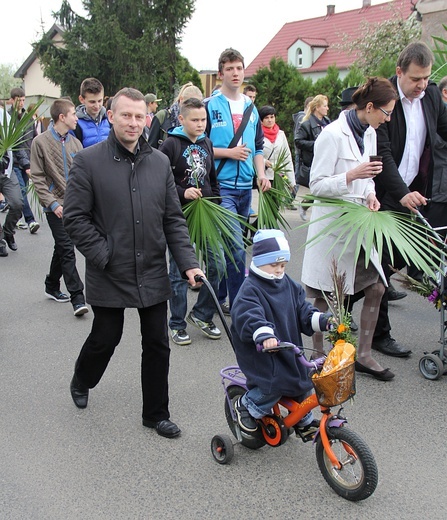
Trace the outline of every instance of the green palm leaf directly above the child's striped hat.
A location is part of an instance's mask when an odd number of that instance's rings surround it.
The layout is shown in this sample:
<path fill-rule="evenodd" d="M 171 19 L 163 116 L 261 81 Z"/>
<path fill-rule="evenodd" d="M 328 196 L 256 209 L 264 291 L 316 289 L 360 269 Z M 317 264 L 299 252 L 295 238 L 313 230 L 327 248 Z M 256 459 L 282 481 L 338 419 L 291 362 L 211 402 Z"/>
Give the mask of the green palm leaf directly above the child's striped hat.
<path fill-rule="evenodd" d="M 289 223 L 281 214 L 291 203 L 291 186 L 287 178 L 287 154 L 281 150 L 278 159 L 272 166 L 273 185 L 268 191 L 259 191 L 258 228 L 279 229 L 281 226 L 290 228 Z"/>

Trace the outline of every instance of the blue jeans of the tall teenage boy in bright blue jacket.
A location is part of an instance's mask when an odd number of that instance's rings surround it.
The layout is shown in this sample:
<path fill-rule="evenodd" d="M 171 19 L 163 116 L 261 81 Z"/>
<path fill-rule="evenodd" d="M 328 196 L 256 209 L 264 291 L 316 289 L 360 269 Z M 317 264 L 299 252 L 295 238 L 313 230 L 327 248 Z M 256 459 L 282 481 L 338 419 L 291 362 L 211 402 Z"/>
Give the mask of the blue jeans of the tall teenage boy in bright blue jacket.
<path fill-rule="evenodd" d="M 251 206 L 251 189 L 249 190 L 233 190 L 228 188 L 220 188 L 220 196 L 222 197 L 221 206 L 232 213 L 248 220 Z M 232 253 L 236 265 L 230 261 L 225 255 L 227 263 L 227 277 L 222 280 L 219 287 L 219 302 L 224 303 L 228 291 L 230 308 L 236 298 L 237 293 L 245 279 L 245 248 L 243 240 L 244 226 L 237 220 L 233 222 L 234 240 L 231 245 Z M 226 285 L 226 286 L 225 286 Z"/>

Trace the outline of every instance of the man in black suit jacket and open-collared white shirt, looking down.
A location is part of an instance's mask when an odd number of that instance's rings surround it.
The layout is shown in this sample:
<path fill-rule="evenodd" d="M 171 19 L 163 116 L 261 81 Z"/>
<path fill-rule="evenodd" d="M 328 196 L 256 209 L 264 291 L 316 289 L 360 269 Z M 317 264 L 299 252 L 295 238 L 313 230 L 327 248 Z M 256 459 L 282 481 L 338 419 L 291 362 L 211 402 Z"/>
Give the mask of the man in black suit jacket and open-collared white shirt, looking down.
<path fill-rule="evenodd" d="M 439 167 L 447 140 L 447 109 L 438 87 L 429 81 L 433 54 L 424 43 L 411 43 L 401 52 L 396 76 L 391 82 L 399 93 L 393 114 L 377 129 L 377 153 L 383 157 L 383 170 L 375 178 L 382 210 L 416 211 L 422 207 L 433 226 L 446 224 L 447 185 Z M 444 182 L 444 185 L 442 184 Z M 427 204 L 427 199 L 431 202 Z M 394 258 L 399 258 L 395 252 Z M 384 255 L 382 267 L 389 278 L 390 258 Z M 404 262 L 395 262 L 403 267 Z M 380 352 L 407 357 L 411 351 L 390 335 L 388 294 L 385 291 L 372 347 Z"/>

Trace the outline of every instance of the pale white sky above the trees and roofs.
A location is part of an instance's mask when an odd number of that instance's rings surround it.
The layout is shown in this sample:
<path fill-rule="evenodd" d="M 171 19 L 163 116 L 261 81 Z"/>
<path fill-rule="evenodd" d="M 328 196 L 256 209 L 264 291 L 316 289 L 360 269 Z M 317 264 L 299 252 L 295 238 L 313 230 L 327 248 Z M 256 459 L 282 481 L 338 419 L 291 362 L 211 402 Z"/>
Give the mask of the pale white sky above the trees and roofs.
<path fill-rule="evenodd" d="M 327 5 L 335 12 L 361 8 L 363 0 L 196 0 L 195 12 L 185 28 L 181 51 L 198 70 L 216 70 L 217 59 L 227 47 L 237 49 L 248 66 L 287 22 L 324 16 Z M 386 0 L 372 0 L 372 5 Z M 31 42 L 54 23 L 52 12 L 62 0 L 3 2 L 0 30 L 0 64 L 18 68 L 31 54 Z M 6 4 L 6 5 L 5 5 Z M 70 0 L 72 9 L 84 14 L 82 0 Z"/>

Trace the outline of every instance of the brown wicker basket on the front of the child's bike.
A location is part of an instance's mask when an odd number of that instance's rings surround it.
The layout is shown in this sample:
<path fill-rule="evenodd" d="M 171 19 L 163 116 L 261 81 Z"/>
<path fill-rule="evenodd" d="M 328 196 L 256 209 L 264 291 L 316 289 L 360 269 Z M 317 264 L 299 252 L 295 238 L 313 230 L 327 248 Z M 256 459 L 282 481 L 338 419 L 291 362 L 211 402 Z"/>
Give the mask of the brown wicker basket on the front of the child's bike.
<path fill-rule="evenodd" d="M 332 374 L 316 376 L 312 383 L 322 406 L 337 406 L 355 395 L 355 363 Z"/>

